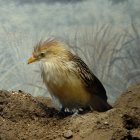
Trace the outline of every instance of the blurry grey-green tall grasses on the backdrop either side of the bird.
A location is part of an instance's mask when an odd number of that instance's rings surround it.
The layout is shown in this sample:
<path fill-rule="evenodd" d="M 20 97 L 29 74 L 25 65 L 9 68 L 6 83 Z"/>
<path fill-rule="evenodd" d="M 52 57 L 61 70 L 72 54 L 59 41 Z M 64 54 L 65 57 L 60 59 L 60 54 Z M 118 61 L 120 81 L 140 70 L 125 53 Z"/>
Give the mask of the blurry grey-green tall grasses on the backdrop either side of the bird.
<path fill-rule="evenodd" d="M 64 38 L 103 82 L 110 102 L 114 102 L 122 90 L 140 82 L 140 35 L 137 26 L 133 22 L 131 25 L 131 32 L 102 25 L 81 29 Z M 9 33 L 6 29 L 3 34 L 0 36 L 5 40 L 0 44 L 0 88 L 47 95 L 40 76 L 40 63 L 27 65 L 39 38 L 29 33 Z"/>

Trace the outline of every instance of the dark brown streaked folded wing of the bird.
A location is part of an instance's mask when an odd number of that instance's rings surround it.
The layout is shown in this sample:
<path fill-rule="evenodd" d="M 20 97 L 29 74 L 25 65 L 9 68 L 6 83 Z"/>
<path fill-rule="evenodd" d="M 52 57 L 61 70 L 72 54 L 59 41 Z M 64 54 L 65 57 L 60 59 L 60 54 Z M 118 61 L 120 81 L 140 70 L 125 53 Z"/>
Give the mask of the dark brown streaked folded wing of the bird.
<path fill-rule="evenodd" d="M 92 94 L 96 94 L 104 101 L 107 101 L 107 95 L 105 88 L 103 87 L 100 80 L 90 71 L 88 66 L 81 60 L 80 57 L 74 56 L 73 61 L 75 63 L 75 67 L 79 72 L 79 77 L 83 81 L 85 88 Z"/>

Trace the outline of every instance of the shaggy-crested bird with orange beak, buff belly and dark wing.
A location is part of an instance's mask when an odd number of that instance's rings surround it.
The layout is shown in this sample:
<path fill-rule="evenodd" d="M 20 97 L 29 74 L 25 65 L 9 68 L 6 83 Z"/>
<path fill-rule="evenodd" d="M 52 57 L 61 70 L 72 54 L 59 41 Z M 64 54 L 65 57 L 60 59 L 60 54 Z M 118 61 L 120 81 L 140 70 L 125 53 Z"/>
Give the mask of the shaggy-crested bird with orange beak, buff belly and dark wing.
<path fill-rule="evenodd" d="M 111 109 L 103 84 L 86 63 L 72 53 L 69 46 L 57 39 L 39 41 L 28 64 L 40 61 L 41 75 L 51 96 L 66 108 L 90 108 L 98 112 Z"/>

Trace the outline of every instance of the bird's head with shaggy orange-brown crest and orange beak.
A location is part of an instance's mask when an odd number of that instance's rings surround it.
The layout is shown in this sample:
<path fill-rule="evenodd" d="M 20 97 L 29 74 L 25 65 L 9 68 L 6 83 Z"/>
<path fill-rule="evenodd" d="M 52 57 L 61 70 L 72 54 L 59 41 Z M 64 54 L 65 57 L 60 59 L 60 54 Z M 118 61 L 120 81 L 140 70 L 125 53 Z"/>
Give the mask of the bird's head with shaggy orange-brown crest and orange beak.
<path fill-rule="evenodd" d="M 35 45 L 32 56 L 28 59 L 28 64 L 39 60 L 67 59 L 69 51 L 66 48 L 66 44 L 55 39 L 40 41 Z"/>

